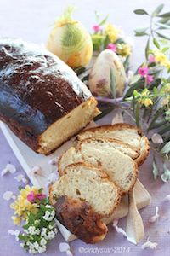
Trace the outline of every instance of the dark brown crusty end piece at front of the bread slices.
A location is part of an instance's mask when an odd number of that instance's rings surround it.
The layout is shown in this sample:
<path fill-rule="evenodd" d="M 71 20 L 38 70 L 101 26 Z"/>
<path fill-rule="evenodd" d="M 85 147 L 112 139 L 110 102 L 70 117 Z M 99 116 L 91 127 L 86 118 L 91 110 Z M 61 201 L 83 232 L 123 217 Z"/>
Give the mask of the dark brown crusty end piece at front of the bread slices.
<path fill-rule="evenodd" d="M 107 226 L 87 201 L 61 196 L 55 209 L 59 222 L 82 241 L 96 243 L 105 238 Z"/>

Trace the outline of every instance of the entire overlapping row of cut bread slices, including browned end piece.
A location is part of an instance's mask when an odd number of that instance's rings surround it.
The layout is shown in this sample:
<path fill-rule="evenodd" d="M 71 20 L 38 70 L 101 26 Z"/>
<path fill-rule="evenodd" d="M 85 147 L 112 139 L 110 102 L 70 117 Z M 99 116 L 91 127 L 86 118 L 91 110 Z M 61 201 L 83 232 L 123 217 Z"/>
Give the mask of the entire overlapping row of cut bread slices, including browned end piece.
<path fill-rule="evenodd" d="M 110 216 L 121 196 L 133 189 L 138 165 L 149 148 L 147 138 L 132 125 L 82 131 L 77 147 L 60 157 L 60 178 L 50 188 L 59 221 L 85 242 L 102 240 L 107 232 L 102 218 Z"/>

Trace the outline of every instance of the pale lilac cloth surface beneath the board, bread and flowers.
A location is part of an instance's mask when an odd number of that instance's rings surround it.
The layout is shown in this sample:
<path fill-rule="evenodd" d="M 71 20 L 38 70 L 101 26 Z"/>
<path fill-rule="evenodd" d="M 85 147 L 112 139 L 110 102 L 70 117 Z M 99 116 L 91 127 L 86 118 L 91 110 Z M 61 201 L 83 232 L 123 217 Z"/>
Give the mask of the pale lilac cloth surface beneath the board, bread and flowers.
<path fill-rule="evenodd" d="M 167 10 L 170 9 L 169 0 L 164 0 L 167 4 Z M 88 29 L 94 24 L 94 10 L 98 9 L 103 15 L 110 13 L 110 20 L 115 22 L 116 25 L 121 25 L 127 35 L 133 35 L 134 24 L 135 27 L 144 26 L 145 20 L 143 17 L 137 17 L 133 15 L 133 9 L 145 8 L 152 10 L 157 4 L 161 2 L 159 0 L 148 0 L 147 3 L 142 0 L 119 0 L 116 3 L 113 1 L 62 1 L 49 0 L 49 1 L 0 1 L 0 34 L 2 36 L 20 37 L 26 40 L 44 44 L 47 40 L 48 32 L 50 30 L 49 25 L 53 23 L 56 16 L 59 15 L 65 6 L 75 3 L 77 6 L 76 16 L 82 23 L 86 24 Z M 88 15 L 87 15 L 88 14 Z M 88 17 L 88 19 L 87 19 Z M 147 24 L 146 24 L 147 25 Z M 143 59 L 143 47 L 144 40 L 135 39 L 136 49 L 134 51 L 133 60 L 135 64 Z M 100 124 L 111 122 L 112 113 L 105 119 L 100 120 Z M 23 173 L 18 160 L 16 160 L 11 148 L 8 146 L 2 131 L 0 131 L 0 169 L 11 162 L 16 166 L 17 172 L 15 174 L 8 174 L 4 177 L 0 177 L 0 256 L 24 256 L 28 255 L 24 253 L 20 244 L 14 241 L 13 236 L 8 236 L 8 229 L 14 229 L 11 215 L 13 211 L 9 208 L 9 202 L 3 201 L 3 193 L 7 190 L 14 191 L 14 194 L 18 193 L 18 186 L 14 180 L 14 176 Z M 164 201 L 164 197 L 170 194 L 169 183 L 163 183 L 161 180 L 154 181 L 152 175 L 152 157 L 145 161 L 144 165 L 139 170 L 139 180 L 150 192 L 152 201 L 149 207 L 146 207 L 140 211 L 144 220 L 145 236 L 144 240 L 135 246 L 128 242 L 121 234 L 117 234 L 116 231 L 109 227 L 109 233 L 105 238 L 105 241 L 101 241 L 97 245 L 89 246 L 82 241 L 72 241 L 71 251 L 74 255 L 120 255 L 120 250 L 129 251 L 129 253 L 122 253 L 123 255 L 170 255 L 170 202 Z M 149 218 L 155 214 L 156 206 L 159 207 L 160 218 L 154 224 L 149 223 Z M 123 218 L 119 225 L 125 227 L 126 219 Z M 150 236 L 150 241 L 158 243 L 156 251 L 151 251 L 149 248 L 144 251 L 141 249 L 141 245 Z M 65 253 L 59 253 L 59 242 L 64 241 L 63 237 L 58 236 L 51 242 L 48 247 L 47 253 L 43 255 L 65 255 Z M 98 253 L 97 249 L 103 248 L 106 250 L 111 249 L 111 253 Z M 91 251 L 90 251 L 91 249 Z M 92 249 L 94 251 L 92 251 Z M 82 251 L 81 251 L 82 250 Z"/>

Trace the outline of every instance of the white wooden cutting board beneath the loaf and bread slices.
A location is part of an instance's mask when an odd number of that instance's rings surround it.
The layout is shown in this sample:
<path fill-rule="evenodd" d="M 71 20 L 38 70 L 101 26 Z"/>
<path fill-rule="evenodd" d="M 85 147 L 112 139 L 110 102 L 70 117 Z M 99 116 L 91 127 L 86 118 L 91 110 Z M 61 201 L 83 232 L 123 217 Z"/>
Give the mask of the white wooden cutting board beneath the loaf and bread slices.
<path fill-rule="evenodd" d="M 94 127 L 96 124 L 91 122 L 88 127 Z M 26 172 L 27 176 L 30 178 L 31 183 L 38 188 L 43 188 L 46 193 L 48 193 L 48 184 L 49 184 L 49 177 L 51 173 L 56 175 L 56 179 L 59 177 L 58 175 L 58 166 L 57 164 L 52 165 L 51 161 L 56 160 L 59 158 L 66 149 L 70 148 L 71 146 L 76 144 L 76 137 L 71 138 L 70 141 L 63 144 L 60 148 L 58 148 L 53 154 L 48 156 L 37 154 L 31 148 L 26 146 L 25 143 L 20 141 L 18 137 L 14 135 L 12 131 L 5 125 L 3 122 L 0 121 L 0 127 L 3 131 L 4 136 L 6 137 L 8 144 L 14 151 L 15 156 L 20 161 L 20 165 L 23 167 L 24 171 Z M 88 128 L 87 127 L 87 128 Z M 41 170 L 41 175 L 34 175 L 32 169 L 35 166 L 39 167 Z M 134 196 L 136 200 L 136 204 L 138 209 L 146 207 L 150 203 L 150 194 L 142 183 L 137 181 L 134 187 Z M 116 208 L 116 211 L 110 218 L 105 218 L 105 223 L 109 224 L 114 218 L 123 218 L 127 215 L 128 212 L 128 201 L 127 196 L 122 197 L 121 204 Z M 59 221 L 56 221 L 58 228 L 64 236 L 65 241 L 72 241 L 75 240 L 77 237 L 72 235 L 69 230 L 67 230 Z"/>

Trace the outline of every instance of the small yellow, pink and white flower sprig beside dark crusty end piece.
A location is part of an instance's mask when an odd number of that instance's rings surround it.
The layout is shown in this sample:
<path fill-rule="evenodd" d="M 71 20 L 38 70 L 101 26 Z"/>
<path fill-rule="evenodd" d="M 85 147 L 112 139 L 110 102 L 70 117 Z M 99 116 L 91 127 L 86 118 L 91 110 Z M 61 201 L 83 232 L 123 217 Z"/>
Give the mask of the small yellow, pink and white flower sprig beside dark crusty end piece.
<path fill-rule="evenodd" d="M 51 206 L 42 189 L 26 186 L 20 189 L 20 195 L 11 204 L 14 209 L 14 224 L 20 225 L 25 221 L 23 231 L 18 234 L 22 241 L 20 246 L 29 253 L 43 253 L 50 240 L 57 234 L 55 224 L 55 210 Z"/>

